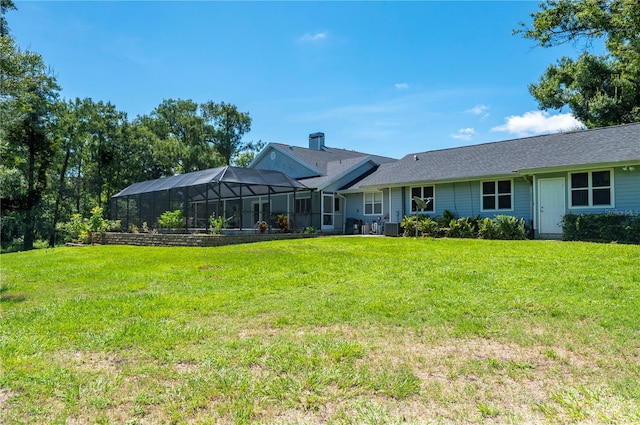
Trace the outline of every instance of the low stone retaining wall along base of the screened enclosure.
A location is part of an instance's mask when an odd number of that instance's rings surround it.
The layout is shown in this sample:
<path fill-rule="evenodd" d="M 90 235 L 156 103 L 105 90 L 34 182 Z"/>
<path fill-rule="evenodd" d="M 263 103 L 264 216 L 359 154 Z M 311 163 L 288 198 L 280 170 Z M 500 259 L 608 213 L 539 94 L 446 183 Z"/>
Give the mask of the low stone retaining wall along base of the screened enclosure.
<path fill-rule="evenodd" d="M 312 238 L 316 235 L 304 233 L 262 233 L 245 235 L 199 235 L 161 233 L 107 233 L 105 245 L 137 246 L 224 246 L 241 243 L 263 242 L 283 239 Z"/>

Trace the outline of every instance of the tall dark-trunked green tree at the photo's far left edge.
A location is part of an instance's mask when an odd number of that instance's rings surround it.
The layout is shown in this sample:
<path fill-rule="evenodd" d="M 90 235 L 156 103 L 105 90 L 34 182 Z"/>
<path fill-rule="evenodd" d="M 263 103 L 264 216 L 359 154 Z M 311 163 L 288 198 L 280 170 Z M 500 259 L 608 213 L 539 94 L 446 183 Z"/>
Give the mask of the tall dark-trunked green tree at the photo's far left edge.
<path fill-rule="evenodd" d="M 19 175 L 25 185 L 11 195 L 3 193 L 1 209 L 3 219 L 6 214 L 22 217 L 23 249 L 33 248 L 37 208 L 57 148 L 51 129 L 58 90 L 40 55 L 20 50 L 9 35 L 0 36 L 2 171 Z"/>

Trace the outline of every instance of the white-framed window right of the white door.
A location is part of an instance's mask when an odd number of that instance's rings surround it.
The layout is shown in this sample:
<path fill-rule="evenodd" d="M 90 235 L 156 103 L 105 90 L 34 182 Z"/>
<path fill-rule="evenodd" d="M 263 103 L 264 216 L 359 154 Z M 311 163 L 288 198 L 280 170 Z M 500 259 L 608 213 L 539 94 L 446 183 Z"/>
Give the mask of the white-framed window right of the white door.
<path fill-rule="evenodd" d="M 571 206 L 611 206 L 611 171 L 571 174 Z"/>

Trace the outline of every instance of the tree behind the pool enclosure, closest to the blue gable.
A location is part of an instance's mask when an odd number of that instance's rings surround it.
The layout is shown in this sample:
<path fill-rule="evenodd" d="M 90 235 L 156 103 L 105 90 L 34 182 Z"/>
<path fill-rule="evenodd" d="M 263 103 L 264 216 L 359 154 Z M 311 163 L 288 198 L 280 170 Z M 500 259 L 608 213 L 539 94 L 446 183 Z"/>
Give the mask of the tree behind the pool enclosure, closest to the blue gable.
<path fill-rule="evenodd" d="M 242 143 L 242 136 L 251 129 L 251 117 L 248 112 L 240 112 L 235 105 L 228 103 L 207 102 L 200 107 L 207 123 L 211 123 L 213 132 L 208 136 L 215 150 L 225 163 L 231 160 L 247 145 Z"/>

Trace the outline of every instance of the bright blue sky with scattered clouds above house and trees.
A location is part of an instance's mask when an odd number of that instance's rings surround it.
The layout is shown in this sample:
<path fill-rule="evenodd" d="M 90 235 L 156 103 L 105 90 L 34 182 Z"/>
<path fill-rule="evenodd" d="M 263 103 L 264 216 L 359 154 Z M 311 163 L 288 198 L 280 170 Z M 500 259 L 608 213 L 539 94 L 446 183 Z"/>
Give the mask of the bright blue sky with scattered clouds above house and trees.
<path fill-rule="evenodd" d="M 130 118 L 163 99 L 232 103 L 246 141 L 412 152 L 558 131 L 527 86 L 576 46 L 513 36 L 536 1 L 34 2 L 7 16 L 67 99 Z"/>

